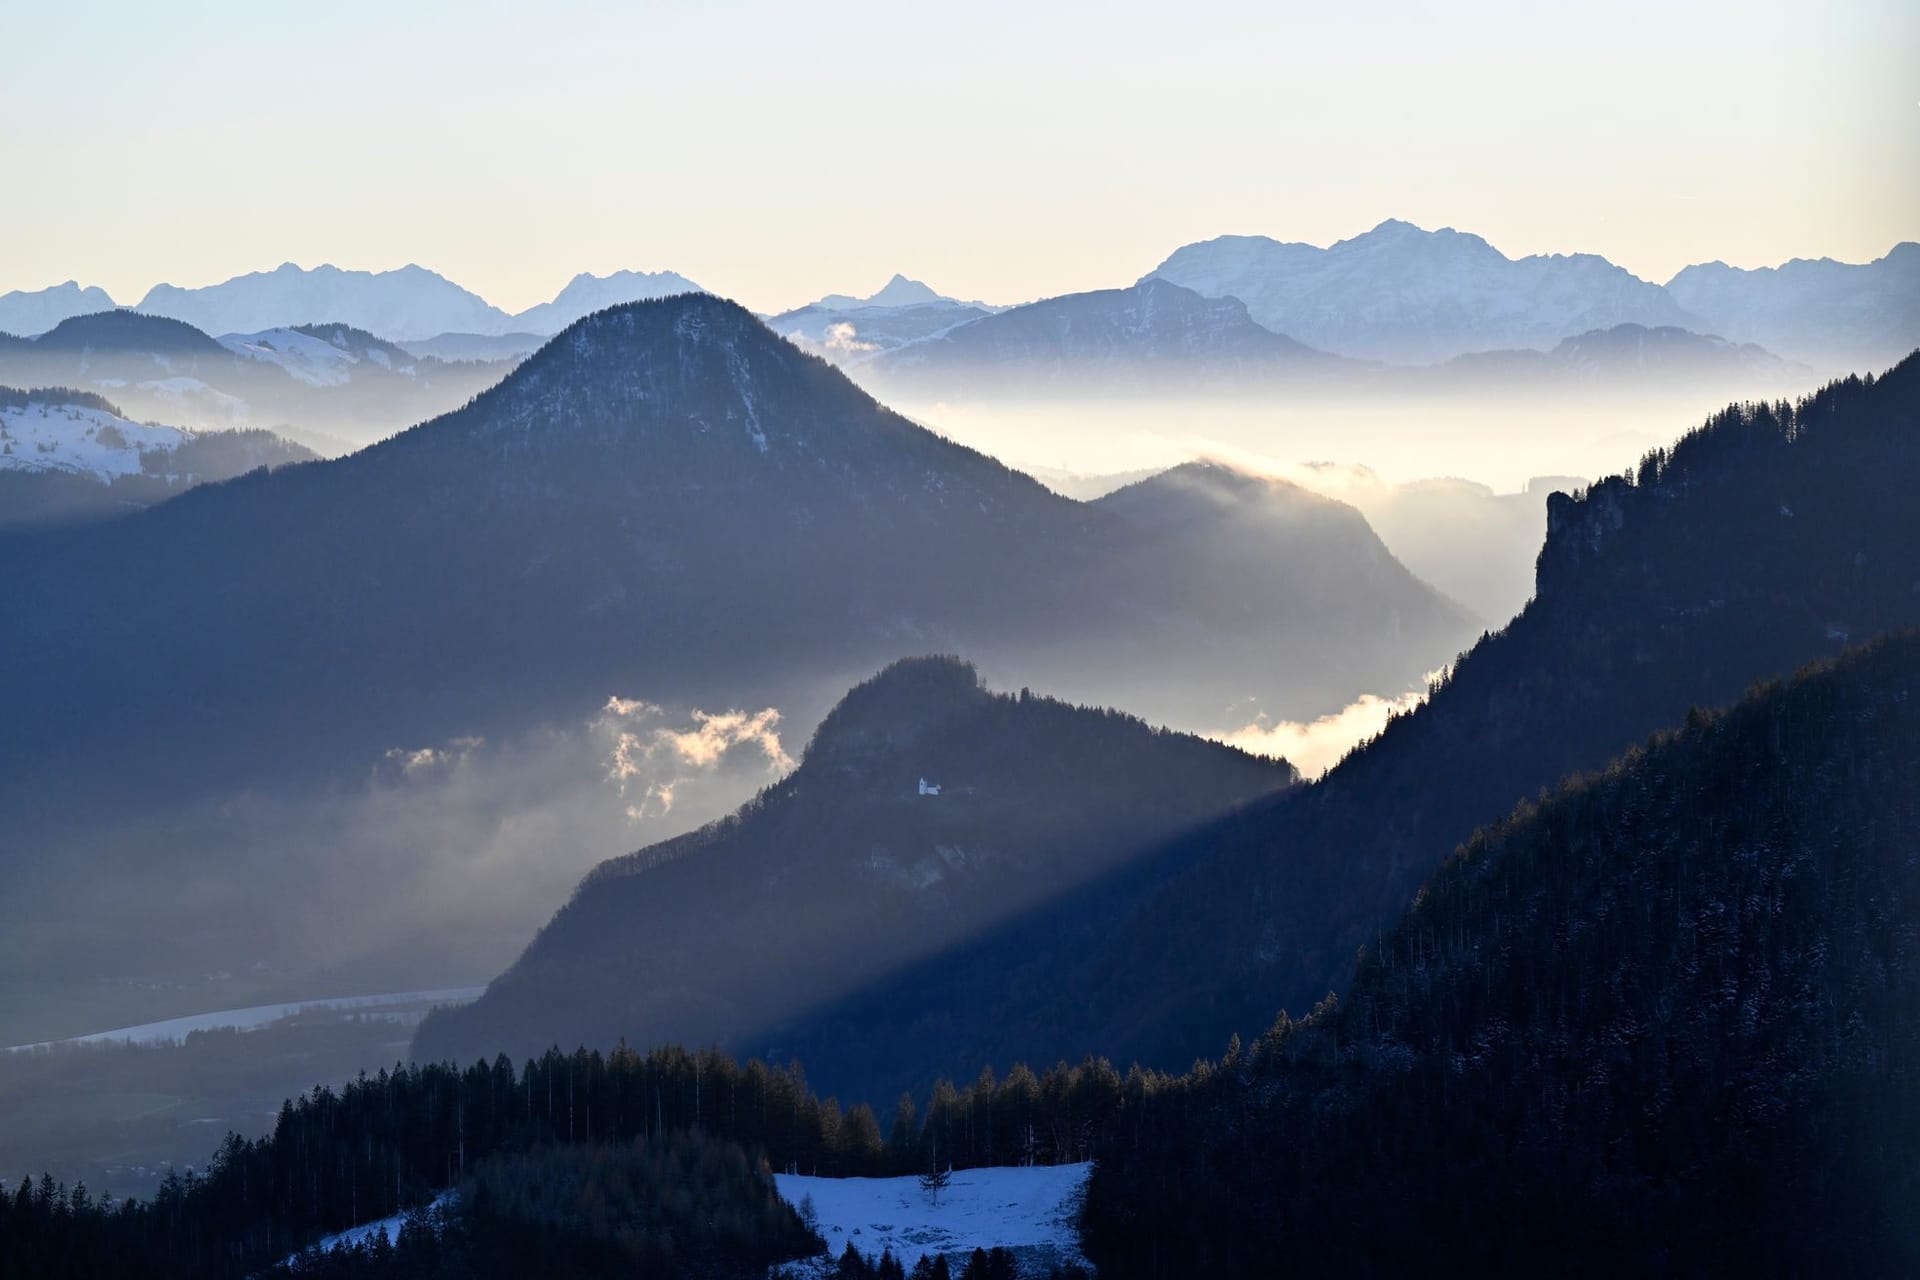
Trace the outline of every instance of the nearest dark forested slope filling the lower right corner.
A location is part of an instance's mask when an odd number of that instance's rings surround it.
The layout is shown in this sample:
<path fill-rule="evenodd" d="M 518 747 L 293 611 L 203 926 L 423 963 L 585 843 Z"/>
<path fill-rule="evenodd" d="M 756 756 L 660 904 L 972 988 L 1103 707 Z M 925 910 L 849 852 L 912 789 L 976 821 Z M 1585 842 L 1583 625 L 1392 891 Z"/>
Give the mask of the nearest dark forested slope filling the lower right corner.
<path fill-rule="evenodd" d="M 1110 1130 L 1089 1253 L 1912 1274 L 1916 850 L 1912 633 L 1693 714 L 1475 835 L 1338 1006 Z"/>

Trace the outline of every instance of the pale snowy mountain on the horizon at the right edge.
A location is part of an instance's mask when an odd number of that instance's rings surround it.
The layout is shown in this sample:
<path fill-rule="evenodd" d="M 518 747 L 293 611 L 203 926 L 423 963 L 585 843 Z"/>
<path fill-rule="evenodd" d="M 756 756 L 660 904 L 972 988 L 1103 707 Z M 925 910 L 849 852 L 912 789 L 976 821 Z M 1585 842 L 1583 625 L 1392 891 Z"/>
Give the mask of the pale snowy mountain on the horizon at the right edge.
<path fill-rule="evenodd" d="M 1920 345 L 1920 244 L 1872 263 L 1795 257 L 1743 271 L 1688 267 L 1667 282 L 1715 332 L 1759 342 L 1828 370 L 1878 368 Z"/>

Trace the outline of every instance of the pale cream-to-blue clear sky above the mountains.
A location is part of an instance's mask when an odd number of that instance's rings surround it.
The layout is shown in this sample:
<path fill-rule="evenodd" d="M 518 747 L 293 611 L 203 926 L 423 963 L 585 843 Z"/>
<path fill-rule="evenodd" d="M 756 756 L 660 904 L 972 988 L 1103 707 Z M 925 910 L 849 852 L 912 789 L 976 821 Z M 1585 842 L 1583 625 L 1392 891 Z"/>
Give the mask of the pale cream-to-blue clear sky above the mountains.
<path fill-rule="evenodd" d="M 1386 217 L 1509 255 L 1920 238 L 1920 4 L 0 6 L 0 292 L 415 261 L 516 311 L 1021 301 Z"/>

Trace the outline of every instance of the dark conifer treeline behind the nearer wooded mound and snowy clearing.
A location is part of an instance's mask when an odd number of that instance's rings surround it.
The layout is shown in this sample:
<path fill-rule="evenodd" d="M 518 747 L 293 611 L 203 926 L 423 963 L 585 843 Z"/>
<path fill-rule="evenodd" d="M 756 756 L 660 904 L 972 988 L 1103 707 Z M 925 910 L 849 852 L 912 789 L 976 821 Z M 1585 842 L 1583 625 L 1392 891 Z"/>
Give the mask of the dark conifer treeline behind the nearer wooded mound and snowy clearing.
<path fill-rule="evenodd" d="M 490 1159 L 566 1159 L 551 1155 L 563 1144 L 614 1150 L 701 1132 L 774 1169 L 826 1176 L 1079 1161 L 1160 1084 L 1104 1061 L 985 1071 L 966 1088 L 941 1082 L 924 1109 L 902 1098 L 881 1130 L 872 1107 L 816 1098 L 799 1065 L 741 1065 L 718 1050 L 549 1050 L 518 1071 L 505 1055 L 467 1069 L 397 1065 L 286 1102 L 271 1134 L 230 1134 L 205 1171 L 169 1174 L 150 1201 L 96 1203 L 50 1178 L 0 1194 L 0 1276 L 240 1276 L 420 1207 L 493 1169 Z"/>

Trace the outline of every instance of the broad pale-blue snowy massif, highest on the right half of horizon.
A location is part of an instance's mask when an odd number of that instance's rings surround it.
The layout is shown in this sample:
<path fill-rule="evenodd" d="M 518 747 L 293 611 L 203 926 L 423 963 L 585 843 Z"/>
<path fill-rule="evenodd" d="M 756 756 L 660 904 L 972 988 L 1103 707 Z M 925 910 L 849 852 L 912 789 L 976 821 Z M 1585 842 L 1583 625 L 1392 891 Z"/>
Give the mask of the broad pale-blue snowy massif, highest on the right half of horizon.
<path fill-rule="evenodd" d="M 1428 365 L 1467 351 L 1551 347 L 1615 324 L 1701 328 L 1661 286 L 1592 253 L 1511 259 L 1453 228 L 1386 221 L 1331 248 L 1219 236 L 1148 273 L 1238 297 L 1309 347 Z"/>

